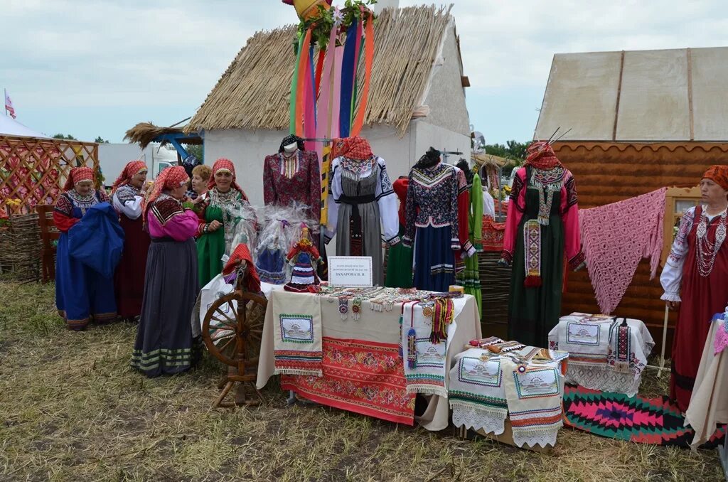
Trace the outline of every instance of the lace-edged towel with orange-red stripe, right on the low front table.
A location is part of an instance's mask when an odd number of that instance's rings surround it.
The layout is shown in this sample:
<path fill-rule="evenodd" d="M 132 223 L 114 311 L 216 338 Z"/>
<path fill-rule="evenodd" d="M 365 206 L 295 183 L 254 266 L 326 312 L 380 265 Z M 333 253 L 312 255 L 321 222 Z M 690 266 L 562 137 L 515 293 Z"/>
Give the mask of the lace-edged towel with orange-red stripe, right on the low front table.
<path fill-rule="evenodd" d="M 504 356 L 501 360 L 513 442 L 519 447 L 524 443 L 531 447 L 555 446 L 563 425 L 560 362 L 529 363 L 521 372 L 512 357 Z"/>

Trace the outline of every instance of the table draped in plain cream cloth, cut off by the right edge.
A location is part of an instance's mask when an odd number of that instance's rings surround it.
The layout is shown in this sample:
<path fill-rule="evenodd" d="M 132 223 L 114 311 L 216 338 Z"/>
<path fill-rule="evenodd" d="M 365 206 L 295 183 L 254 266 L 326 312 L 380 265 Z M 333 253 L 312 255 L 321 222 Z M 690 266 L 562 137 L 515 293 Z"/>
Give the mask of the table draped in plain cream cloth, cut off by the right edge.
<path fill-rule="evenodd" d="M 685 414 L 685 424 L 695 430 L 695 438 L 690 444 L 692 448 L 707 442 L 716 424 L 728 423 L 728 349 L 716 355 L 714 348 L 716 333 L 724 329 L 724 323 L 726 321 L 719 318 L 711 323 Z"/>

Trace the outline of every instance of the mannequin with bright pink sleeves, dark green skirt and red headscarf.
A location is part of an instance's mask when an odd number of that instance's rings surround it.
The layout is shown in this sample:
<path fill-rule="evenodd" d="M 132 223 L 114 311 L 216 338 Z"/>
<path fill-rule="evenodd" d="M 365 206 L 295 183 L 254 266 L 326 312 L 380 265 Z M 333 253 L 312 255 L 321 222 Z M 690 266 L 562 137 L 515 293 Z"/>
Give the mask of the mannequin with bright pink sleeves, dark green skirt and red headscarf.
<path fill-rule="evenodd" d="M 550 144 L 537 142 L 513 179 L 502 264 L 513 264 L 508 337 L 546 347 L 561 316 L 563 260 L 584 265 L 574 176 Z"/>

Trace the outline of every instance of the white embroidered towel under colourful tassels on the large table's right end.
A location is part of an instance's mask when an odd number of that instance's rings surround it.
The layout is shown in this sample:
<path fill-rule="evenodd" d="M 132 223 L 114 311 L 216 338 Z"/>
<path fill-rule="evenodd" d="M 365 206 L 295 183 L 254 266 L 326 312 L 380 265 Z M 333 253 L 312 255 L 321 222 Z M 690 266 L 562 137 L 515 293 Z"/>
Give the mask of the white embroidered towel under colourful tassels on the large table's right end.
<path fill-rule="evenodd" d="M 448 325 L 448 337 L 439 343 L 432 343 L 432 317 L 425 316 L 423 308 L 417 303 L 404 305 L 402 321 L 402 352 L 405 360 L 405 379 L 408 393 L 422 393 L 425 395 L 440 395 L 448 398 L 446 377 L 448 347 L 457 330 L 457 317 L 465 306 L 466 297 L 453 299 L 454 320 Z M 415 366 L 411 368 L 406 360 L 411 357 L 408 347 L 408 331 L 414 328 L 416 333 Z"/>

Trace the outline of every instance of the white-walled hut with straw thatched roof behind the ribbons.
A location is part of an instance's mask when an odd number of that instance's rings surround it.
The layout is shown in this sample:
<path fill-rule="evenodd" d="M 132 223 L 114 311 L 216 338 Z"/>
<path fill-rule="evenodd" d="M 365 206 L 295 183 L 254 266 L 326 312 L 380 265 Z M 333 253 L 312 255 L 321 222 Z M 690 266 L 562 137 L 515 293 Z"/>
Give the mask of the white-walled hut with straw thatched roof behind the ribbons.
<path fill-rule="evenodd" d="M 186 127 L 205 136 L 205 159 L 227 157 L 260 172 L 288 133 L 293 25 L 248 39 Z M 371 90 L 362 135 L 387 160 L 390 176 L 408 173 L 429 146 L 470 151 L 459 37 L 450 8 L 384 9 L 374 25 Z M 262 203 L 260 178 L 243 180 Z"/>

